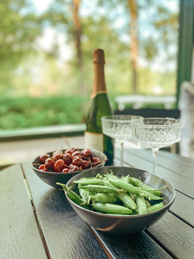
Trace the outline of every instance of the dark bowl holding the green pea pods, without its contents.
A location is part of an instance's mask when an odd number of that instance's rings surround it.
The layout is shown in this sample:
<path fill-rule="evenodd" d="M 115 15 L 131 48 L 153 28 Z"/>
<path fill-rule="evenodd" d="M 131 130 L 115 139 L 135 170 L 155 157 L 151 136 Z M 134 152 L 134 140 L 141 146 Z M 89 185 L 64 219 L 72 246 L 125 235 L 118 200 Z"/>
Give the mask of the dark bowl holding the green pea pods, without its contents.
<path fill-rule="evenodd" d="M 162 190 L 162 197 L 164 198 L 163 203 L 164 207 L 160 210 L 146 213 L 143 215 L 131 215 L 131 216 L 114 216 L 108 214 L 102 214 L 94 211 L 84 209 L 74 203 L 65 193 L 70 205 L 72 208 L 79 214 L 79 216 L 89 225 L 97 228 L 101 231 L 106 232 L 116 232 L 116 233 L 137 233 L 140 231 L 149 228 L 155 224 L 164 214 L 168 211 L 169 207 L 172 205 L 175 199 L 175 190 L 174 187 L 162 177 L 153 174 L 151 172 L 130 168 L 130 167 L 102 167 L 102 168 L 93 168 L 87 171 L 83 171 L 80 174 L 77 174 L 72 179 L 69 180 L 67 186 L 72 186 L 71 190 L 78 192 L 77 184 L 74 184 L 73 181 L 78 180 L 82 177 L 95 177 L 96 174 L 100 173 L 101 175 L 105 174 L 105 171 L 111 169 L 114 175 L 121 178 L 122 176 L 130 175 L 131 177 L 143 179 L 143 181 L 152 186 L 153 188 L 161 188 L 164 185 L 166 188 Z M 151 201 L 152 203 L 155 201 Z"/>

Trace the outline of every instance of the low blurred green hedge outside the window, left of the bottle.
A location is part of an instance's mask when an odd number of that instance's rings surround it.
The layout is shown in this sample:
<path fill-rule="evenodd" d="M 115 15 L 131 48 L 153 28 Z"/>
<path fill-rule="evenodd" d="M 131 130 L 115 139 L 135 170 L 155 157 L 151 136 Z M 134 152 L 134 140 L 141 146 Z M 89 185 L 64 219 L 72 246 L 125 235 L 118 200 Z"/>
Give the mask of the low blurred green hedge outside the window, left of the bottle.
<path fill-rule="evenodd" d="M 0 98 L 0 129 L 82 123 L 86 100 L 80 96 Z"/>

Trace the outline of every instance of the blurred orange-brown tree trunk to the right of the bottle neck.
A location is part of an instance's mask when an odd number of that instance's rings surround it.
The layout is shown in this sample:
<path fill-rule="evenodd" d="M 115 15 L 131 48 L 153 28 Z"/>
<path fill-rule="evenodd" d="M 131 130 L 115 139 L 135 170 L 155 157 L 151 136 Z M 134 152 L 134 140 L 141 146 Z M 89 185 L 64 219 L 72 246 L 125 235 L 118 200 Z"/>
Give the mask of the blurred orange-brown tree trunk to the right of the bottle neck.
<path fill-rule="evenodd" d="M 133 92 L 137 93 L 138 25 L 136 0 L 128 0 L 130 11 L 130 49 L 133 70 Z"/>

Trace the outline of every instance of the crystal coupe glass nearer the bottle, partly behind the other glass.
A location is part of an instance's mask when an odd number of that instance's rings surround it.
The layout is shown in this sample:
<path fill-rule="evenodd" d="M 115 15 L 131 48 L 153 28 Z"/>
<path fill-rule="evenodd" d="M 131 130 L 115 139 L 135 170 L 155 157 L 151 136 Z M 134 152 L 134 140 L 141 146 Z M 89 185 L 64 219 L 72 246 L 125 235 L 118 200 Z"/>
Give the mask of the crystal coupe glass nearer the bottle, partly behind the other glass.
<path fill-rule="evenodd" d="M 121 143 L 121 166 L 123 166 L 123 141 L 131 137 L 131 120 L 140 119 L 141 116 L 134 115 L 110 115 L 101 117 L 103 134 L 120 140 Z"/>

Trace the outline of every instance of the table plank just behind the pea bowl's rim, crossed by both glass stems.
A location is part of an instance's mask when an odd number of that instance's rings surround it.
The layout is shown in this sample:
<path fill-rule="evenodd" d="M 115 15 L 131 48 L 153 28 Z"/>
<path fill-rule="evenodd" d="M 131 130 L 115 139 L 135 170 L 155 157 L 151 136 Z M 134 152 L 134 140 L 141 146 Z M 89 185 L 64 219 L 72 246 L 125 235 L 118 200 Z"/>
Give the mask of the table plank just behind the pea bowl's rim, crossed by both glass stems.
<path fill-rule="evenodd" d="M 119 156 L 119 150 L 115 149 L 115 156 Z M 136 167 L 138 169 L 153 171 L 153 163 L 148 161 L 146 157 L 139 157 L 136 155 L 134 150 L 124 151 L 124 161 L 130 166 Z M 194 181 L 184 176 L 170 172 L 169 170 L 157 166 L 157 174 L 162 176 L 164 179 L 169 181 L 176 190 L 188 195 L 189 197 L 194 197 Z M 184 183 L 184 184 L 183 184 Z"/>

